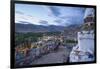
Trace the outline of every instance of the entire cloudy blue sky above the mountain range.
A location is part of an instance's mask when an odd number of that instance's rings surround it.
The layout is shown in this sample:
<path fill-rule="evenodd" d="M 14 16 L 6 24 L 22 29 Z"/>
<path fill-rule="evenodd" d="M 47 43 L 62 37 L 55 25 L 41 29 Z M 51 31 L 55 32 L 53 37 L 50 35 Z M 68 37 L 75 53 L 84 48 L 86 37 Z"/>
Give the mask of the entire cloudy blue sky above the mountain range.
<path fill-rule="evenodd" d="M 15 4 L 15 23 L 44 26 L 82 24 L 85 11 L 86 8 L 82 7 Z"/>

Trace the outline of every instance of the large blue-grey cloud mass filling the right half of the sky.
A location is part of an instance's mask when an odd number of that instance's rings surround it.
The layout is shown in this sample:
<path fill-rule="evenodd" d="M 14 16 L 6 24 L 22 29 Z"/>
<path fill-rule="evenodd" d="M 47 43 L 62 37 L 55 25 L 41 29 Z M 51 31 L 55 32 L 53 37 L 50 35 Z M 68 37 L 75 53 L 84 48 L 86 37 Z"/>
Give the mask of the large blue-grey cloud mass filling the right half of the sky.
<path fill-rule="evenodd" d="M 52 15 L 56 16 L 54 23 L 57 25 L 68 26 L 71 24 L 83 23 L 85 8 L 80 7 L 49 7 Z"/>

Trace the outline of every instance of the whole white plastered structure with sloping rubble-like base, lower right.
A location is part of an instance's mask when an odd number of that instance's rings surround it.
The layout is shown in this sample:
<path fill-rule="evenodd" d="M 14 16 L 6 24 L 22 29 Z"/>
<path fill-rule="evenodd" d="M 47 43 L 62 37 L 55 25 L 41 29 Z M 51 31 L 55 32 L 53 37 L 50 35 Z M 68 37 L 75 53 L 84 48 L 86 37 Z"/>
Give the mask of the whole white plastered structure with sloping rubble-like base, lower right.
<path fill-rule="evenodd" d="M 70 53 L 70 62 L 84 62 L 94 60 L 94 32 L 78 32 L 78 44 Z"/>

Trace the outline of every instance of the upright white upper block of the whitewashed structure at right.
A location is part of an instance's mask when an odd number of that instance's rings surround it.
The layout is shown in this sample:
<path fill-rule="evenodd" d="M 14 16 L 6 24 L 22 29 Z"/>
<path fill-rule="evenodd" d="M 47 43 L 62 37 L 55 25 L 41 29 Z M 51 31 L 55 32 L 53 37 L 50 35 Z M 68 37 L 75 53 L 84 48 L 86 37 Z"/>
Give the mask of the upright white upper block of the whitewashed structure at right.
<path fill-rule="evenodd" d="M 93 31 L 78 32 L 79 50 L 94 53 L 94 33 Z"/>

